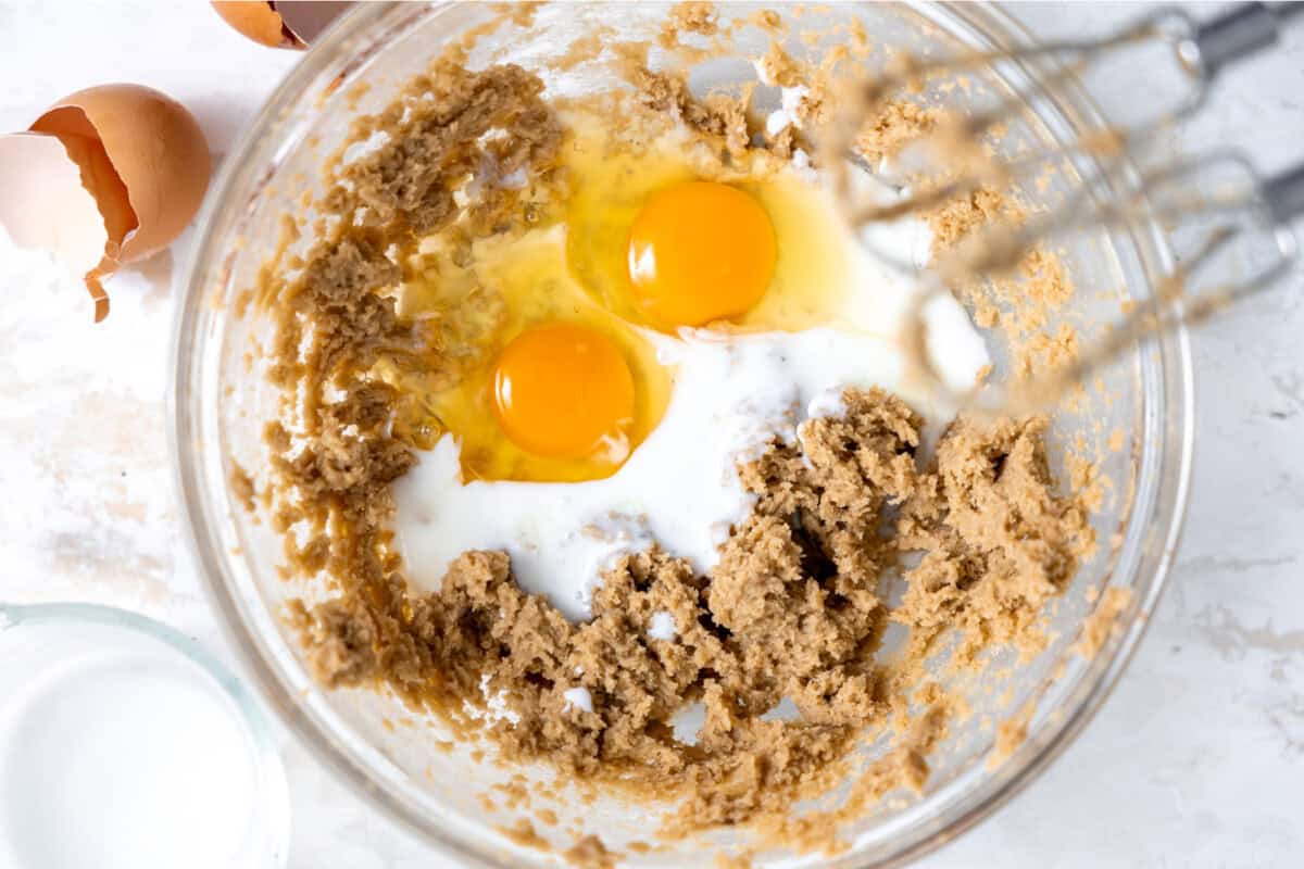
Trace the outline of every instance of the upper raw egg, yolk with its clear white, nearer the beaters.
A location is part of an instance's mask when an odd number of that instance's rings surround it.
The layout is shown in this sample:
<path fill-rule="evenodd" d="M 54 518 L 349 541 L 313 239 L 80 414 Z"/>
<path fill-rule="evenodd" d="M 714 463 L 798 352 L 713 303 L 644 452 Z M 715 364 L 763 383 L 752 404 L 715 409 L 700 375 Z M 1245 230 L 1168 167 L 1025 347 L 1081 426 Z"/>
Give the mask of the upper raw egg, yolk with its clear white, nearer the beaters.
<path fill-rule="evenodd" d="M 604 307 L 668 334 L 889 324 L 891 313 L 866 310 L 868 297 L 852 291 L 863 272 L 883 270 L 808 169 L 704 176 L 709 163 L 673 138 L 636 154 L 609 151 L 600 133 L 576 124 L 566 257 Z"/>

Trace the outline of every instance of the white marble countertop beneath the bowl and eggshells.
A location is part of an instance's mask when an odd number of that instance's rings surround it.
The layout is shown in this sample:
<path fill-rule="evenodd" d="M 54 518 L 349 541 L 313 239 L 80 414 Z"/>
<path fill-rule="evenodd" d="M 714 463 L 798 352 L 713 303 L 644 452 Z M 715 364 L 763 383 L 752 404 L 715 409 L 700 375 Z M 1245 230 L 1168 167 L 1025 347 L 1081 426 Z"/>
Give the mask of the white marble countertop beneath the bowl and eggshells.
<path fill-rule="evenodd" d="M 1193 7 L 1210 14 L 1217 7 Z M 1038 33 L 1103 29 L 1127 4 L 1022 4 Z M 0 0 L 0 132 L 80 87 L 180 99 L 222 159 L 292 52 L 207 4 Z M 1110 98 L 1102 95 L 1108 104 Z M 1304 159 L 1304 27 L 1230 76 L 1171 143 Z M 190 233 L 179 246 L 189 244 Z M 218 650 L 180 545 L 164 436 L 172 257 L 116 278 L 113 315 L 0 257 L 0 598 L 137 608 Z M 35 257 L 35 258 L 34 258 Z M 1184 542 L 1140 653 L 1081 739 L 923 865 L 1283 866 L 1304 855 L 1304 272 L 1194 337 L 1197 461 Z M 346 793 L 288 739 L 296 869 L 451 865 Z"/>

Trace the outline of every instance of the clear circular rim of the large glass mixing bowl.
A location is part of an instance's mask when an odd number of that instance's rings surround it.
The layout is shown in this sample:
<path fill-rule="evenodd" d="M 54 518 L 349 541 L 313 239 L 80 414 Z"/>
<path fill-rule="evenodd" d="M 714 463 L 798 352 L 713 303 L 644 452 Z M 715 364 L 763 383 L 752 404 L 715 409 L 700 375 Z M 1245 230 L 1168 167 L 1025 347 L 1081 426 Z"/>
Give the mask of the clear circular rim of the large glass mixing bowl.
<path fill-rule="evenodd" d="M 259 185 L 271 177 L 288 150 L 287 141 L 303 134 L 304 120 L 296 113 L 303 98 L 383 47 L 389 34 L 449 5 L 452 4 L 356 4 L 286 76 L 244 132 L 198 219 L 198 238 L 185 272 L 185 297 L 177 306 L 173 324 L 168 434 L 188 543 L 218 621 L 263 698 L 316 758 L 373 808 L 437 848 L 477 865 L 498 866 L 505 864 L 498 862 L 499 855 L 486 843 L 456 830 L 445 817 L 422 813 L 420 806 L 395 792 L 387 776 L 369 763 L 368 757 L 374 757 L 374 752 L 365 743 L 352 734 L 333 730 L 319 711 L 303 702 L 301 688 L 306 681 L 303 668 L 292 655 L 273 646 L 279 641 L 273 618 L 257 602 L 250 603 L 245 593 L 250 584 L 245 576 L 248 571 L 223 543 L 220 529 L 227 521 L 224 516 L 230 515 L 226 511 L 230 498 L 220 452 L 213 448 L 220 443 L 215 373 L 223 336 L 220 306 L 211 304 L 213 276 L 218 276 L 218 285 L 224 280 L 223 264 L 230 254 L 227 240 L 240 235 L 232 227 L 249 211 Z M 1033 42 L 1031 34 L 999 8 L 909 5 L 925 17 L 949 20 L 951 33 L 958 27 L 969 38 L 991 47 L 1011 48 Z M 1047 81 L 1045 65 L 1009 63 L 1029 81 Z M 1076 83 L 1056 87 L 1051 98 L 1058 113 L 1069 119 L 1074 128 L 1102 122 L 1102 113 Z M 1133 172 L 1131 167 L 1124 169 L 1125 175 Z M 1133 268 L 1148 284 L 1171 266 L 1171 254 L 1155 221 L 1137 221 L 1129 227 L 1127 241 L 1137 251 Z M 1112 691 L 1150 621 L 1171 567 L 1185 513 L 1193 453 L 1193 383 L 1187 331 L 1179 328 L 1164 335 L 1150 348 L 1158 354 L 1158 377 L 1145 383 L 1146 401 L 1138 426 L 1145 433 L 1158 431 L 1162 449 L 1157 461 L 1142 463 L 1138 468 L 1138 496 L 1128 517 L 1129 532 L 1137 538 L 1148 538 L 1144 547 L 1133 547 L 1134 563 L 1125 571 L 1144 582 L 1131 623 L 1124 631 L 1114 632 L 1099 654 L 1082 664 L 1067 696 L 1059 698 L 1051 713 L 1038 720 L 1028 739 L 995 771 L 974 769 L 958 774 L 927 800 L 917 803 L 918 810 L 908 810 L 889 822 L 891 827 L 898 827 L 891 840 L 835 859 L 829 865 L 900 865 L 955 839 L 1034 780 L 1073 741 Z M 206 384 L 214 388 L 205 388 Z M 1116 573 L 1118 567 L 1111 573 Z M 1149 582 L 1144 580 L 1146 575 Z"/>

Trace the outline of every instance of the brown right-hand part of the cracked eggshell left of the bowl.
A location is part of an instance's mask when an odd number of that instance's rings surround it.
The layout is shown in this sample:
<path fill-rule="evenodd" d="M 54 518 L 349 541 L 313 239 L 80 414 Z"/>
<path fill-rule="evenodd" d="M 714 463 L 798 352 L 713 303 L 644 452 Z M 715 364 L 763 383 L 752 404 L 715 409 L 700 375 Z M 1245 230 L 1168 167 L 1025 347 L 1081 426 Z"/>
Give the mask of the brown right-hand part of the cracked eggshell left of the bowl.
<path fill-rule="evenodd" d="M 124 221 L 113 201 L 125 190 L 136 225 L 120 241 L 120 262 L 167 248 L 194 218 L 209 188 L 203 132 L 185 107 L 150 87 L 100 85 L 77 91 L 47 109 L 31 130 L 59 135 L 78 160 L 111 244 Z M 98 159 L 95 143 L 108 165 Z"/>

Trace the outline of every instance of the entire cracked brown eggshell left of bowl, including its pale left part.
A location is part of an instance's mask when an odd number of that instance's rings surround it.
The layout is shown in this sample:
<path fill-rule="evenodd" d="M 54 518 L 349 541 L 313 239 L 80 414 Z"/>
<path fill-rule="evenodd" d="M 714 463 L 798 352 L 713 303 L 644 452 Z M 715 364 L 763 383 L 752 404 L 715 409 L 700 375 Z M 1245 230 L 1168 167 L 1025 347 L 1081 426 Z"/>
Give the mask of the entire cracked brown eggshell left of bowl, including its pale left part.
<path fill-rule="evenodd" d="M 100 280 L 167 248 L 198 211 L 211 168 L 207 142 L 180 103 L 140 85 L 77 91 L 30 130 L 3 139 L 4 175 L 30 176 L 0 184 L 4 225 L 18 244 L 53 250 L 83 274 L 99 322 L 108 314 Z M 39 162 L 25 165 L 10 154 Z M 73 175 L 98 211 L 98 227 L 69 185 Z M 63 203 L 74 203 L 67 220 Z M 74 232 L 87 235 L 74 240 Z M 98 257 L 87 254 L 96 249 Z"/>

